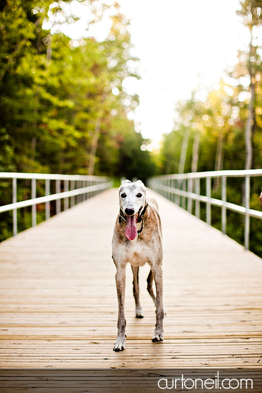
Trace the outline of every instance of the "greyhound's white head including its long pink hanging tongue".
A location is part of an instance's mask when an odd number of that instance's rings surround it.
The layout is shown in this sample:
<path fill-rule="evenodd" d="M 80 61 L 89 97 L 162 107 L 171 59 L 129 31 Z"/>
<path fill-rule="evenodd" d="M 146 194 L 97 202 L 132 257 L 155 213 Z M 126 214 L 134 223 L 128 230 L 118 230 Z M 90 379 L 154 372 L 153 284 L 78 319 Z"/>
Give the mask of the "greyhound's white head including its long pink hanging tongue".
<path fill-rule="evenodd" d="M 128 240 L 137 236 L 136 223 L 146 206 L 146 187 L 141 180 L 124 180 L 119 187 L 119 205 L 126 218 L 125 235 Z"/>

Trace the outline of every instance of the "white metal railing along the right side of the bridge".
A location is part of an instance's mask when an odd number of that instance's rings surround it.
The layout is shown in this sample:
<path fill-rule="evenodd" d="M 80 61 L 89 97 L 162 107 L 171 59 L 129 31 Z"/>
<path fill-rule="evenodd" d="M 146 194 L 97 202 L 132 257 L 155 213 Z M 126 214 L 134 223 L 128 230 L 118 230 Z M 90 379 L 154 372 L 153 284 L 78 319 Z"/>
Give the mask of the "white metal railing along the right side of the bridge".
<path fill-rule="evenodd" d="M 185 174 L 172 174 L 155 176 L 149 179 L 148 186 L 173 200 L 175 203 L 192 213 L 192 201 L 195 200 L 195 215 L 200 218 L 200 202 L 206 203 L 206 222 L 211 225 L 211 205 L 222 208 L 222 232 L 226 233 L 227 228 L 227 209 L 243 214 L 245 216 L 245 249 L 249 249 L 250 217 L 262 219 L 262 212 L 250 209 L 250 177 L 262 176 L 262 169 L 250 170 L 218 170 L 209 172 L 194 172 Z M 222 179 L 221 199 L 211 197 L 211 179 Z M 245 178 L 245 203 L 244 206 L 227 202 L 227 178 Z M 200 193 L 200 180 L 205 179 L 205 195 Z M 193 192 L 193 181 L 195 182 L 195 192 Z M 261 179 L 262 183 L 262 179 Z M 186 206 L 187 198 L 187 206 Z"/>

